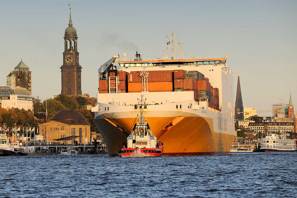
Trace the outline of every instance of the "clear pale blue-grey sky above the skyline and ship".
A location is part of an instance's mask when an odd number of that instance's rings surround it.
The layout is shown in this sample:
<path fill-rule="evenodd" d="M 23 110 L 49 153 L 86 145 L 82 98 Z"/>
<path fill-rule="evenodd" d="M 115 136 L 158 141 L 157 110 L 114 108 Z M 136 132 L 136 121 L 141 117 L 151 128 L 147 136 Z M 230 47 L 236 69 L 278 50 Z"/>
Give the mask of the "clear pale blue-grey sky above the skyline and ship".
<path fill-rule="evenodd" d="M 82 90 L 96 96 L 97 69 L 113 55 L 160 56 L 166 35 L 180 35 L 184 56 L 223 56 L 240 71 L 244 107 L 270 110 L 297 104 L 297 1 L 70 1 L 78 34 Z M 32 71 L 32 92 L 61 93 L 69 1 L 4 1 L 0 8 L 0 86 L 21 56 Z M 168 52 L 168 55 L 170 53 Z M 234 90 L 236 94 L 236 90 Z M 234 95 L 235 98 L 235 95 Z M 297 108 L 297 106 L 296 106 Z M 270 112 L 259 115 L 271 115 Z"/>

